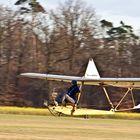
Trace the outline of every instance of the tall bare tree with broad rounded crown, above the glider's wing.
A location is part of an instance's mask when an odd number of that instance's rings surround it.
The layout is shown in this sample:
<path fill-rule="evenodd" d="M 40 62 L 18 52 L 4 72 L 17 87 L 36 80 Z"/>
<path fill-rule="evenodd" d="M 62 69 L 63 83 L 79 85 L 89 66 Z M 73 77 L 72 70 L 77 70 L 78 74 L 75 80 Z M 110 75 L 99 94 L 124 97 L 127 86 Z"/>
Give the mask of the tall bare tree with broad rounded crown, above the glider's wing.
<path fill-rule="evenodd" d="M 64 60 L 69 61 L 69 69 L 73 70 L 75 56 L 80 49 L 89 47 L 96 36 L 97 18 L 93 8 L 79 0 L 67 0 L 51 13 L 55 33 L 67 48 Z M 65 47 L 64 47 L 65 46 Z M 62 47 L 62 46 L 61 46 Z"/>

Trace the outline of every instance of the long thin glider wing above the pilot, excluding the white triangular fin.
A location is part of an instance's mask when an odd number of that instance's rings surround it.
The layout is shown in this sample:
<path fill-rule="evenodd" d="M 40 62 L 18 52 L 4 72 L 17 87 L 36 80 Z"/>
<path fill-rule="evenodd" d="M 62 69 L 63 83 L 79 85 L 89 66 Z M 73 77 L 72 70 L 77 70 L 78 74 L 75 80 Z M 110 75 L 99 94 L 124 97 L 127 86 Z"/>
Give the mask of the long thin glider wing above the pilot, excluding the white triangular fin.
<path fill-rule="evenodd" d="M 140 88 L 140 78 L 87 78 L 78 76 L 64 76 L 64 75 L 52 75 L 52 74 L 39 74 L 39 73 L 22 73 L 22 77 L 45 79 L 52 81 L 71 82 L 77 80 L 77 82 L 84 83 L 84 85 L 97 85 L 97 86 L 115 86 L 115 87 L 131 87 Z"/>

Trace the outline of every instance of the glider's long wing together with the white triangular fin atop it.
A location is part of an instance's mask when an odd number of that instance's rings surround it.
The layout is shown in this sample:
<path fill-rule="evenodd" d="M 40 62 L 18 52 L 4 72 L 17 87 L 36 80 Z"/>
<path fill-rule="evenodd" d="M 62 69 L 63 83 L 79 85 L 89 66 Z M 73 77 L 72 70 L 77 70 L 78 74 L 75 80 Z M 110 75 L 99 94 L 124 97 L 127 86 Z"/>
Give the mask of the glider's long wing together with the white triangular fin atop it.
<path fill-rule="evenodd" d="M 97 86 L 115 86 L 125 88 L 140 88 L 140 78 L 100 78 L 96 65 L 93 59 L 89 59 L 89 63 L 83 77 L 40 74 L 40 73 L 22 73 L 23 77 L 46 79 L 54 81 L 71 82 L 76 80 L 78 84 L 97 85 Z"/>

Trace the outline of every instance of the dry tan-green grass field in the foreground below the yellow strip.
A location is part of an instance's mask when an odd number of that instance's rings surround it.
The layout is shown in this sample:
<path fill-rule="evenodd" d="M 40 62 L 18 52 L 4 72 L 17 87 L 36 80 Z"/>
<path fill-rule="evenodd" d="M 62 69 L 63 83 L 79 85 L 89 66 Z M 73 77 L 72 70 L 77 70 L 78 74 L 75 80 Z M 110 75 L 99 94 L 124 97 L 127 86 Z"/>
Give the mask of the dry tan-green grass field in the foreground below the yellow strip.
<path fill-rule="evenodd" d="M 0 140 L 139 140 L 140 121 L 0 114 Z"/>

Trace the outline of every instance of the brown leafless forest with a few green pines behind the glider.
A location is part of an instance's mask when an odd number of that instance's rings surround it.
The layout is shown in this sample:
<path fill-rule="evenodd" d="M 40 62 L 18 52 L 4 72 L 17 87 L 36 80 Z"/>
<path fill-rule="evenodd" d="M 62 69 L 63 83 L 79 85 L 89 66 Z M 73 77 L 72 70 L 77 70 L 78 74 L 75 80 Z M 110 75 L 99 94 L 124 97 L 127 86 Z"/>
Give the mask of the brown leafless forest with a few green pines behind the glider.
<path fill-rule="evenodd" d="M 131 25 L 99 19 L 93 7 L 79 0 L 66 0 L 51 10 L 36 0 L 15 5 L 18 10 L 0 5 L 0 105 L 43 107 L 54 87 L 66 92 L 69 84 L 21 78 L 20 73 L 83 76 L 89 58 L 101 77 L 140 77 L 140 37 Z M 107 90 L 115 104 L 127 89 Z M 80 105 L 109 108 L 102 92 L 85 86 Z M 139 90 L 134 98 L 139 104 Z M 122 106 L 130 107 L 130 99 Z"/>

